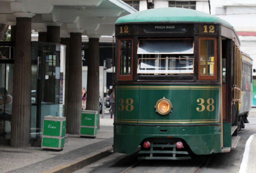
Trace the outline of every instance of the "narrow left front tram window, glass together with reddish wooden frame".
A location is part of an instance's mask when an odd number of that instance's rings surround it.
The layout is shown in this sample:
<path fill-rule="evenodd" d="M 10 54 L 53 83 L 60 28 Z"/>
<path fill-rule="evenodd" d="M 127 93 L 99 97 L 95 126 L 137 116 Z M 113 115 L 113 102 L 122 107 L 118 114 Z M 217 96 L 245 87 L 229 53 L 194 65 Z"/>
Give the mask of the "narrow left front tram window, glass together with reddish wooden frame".
<path fill-rule="evenodd" d="M 119 40 L 118 79 L 132 79 L 132 39 Z"/>

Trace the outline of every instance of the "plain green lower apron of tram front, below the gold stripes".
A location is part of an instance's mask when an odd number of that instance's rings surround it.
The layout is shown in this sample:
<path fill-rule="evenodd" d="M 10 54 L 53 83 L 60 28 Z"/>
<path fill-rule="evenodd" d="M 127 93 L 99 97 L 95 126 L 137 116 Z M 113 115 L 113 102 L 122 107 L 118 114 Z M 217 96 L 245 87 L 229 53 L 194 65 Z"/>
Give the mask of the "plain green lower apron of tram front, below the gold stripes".
<path fill-rule="evenodd" d="M 163 129 L 166 131 L 163 132 Z M 221 127 L 210 125 L 188 127 L 115 125 L 114 152 L 132 154 L 141 141 L 150 137 L 182 138 L 195 154 L 221 152 Z"/>

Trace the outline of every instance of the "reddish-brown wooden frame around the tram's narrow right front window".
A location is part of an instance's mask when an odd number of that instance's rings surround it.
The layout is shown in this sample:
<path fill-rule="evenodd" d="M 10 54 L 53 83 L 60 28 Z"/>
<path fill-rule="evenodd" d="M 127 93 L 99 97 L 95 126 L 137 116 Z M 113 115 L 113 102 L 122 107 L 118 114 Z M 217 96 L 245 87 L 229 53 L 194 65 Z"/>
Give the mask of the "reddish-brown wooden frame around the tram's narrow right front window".
<path fill-rule="evenodd" d="M 201 75 L 200 74 L 200 44 L 201 40 L 214 40 L 214 75 Z M 217 64 L 217 38 L 216 37 L 199 37 L 199 58 L 198 58 L 198 79 L 199 80 L 217 80 L 218 76 L 218 64 Z"/>

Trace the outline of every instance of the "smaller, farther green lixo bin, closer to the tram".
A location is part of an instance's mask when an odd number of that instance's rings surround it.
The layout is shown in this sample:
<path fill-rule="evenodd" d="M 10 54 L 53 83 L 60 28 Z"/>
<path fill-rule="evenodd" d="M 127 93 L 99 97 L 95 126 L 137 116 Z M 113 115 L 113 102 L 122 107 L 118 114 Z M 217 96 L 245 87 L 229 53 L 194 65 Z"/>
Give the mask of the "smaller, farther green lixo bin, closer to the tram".
<path fill-rule="evenodd" d="M 98 111 L 82 111 L 80 136 L 96 137 Z"/>

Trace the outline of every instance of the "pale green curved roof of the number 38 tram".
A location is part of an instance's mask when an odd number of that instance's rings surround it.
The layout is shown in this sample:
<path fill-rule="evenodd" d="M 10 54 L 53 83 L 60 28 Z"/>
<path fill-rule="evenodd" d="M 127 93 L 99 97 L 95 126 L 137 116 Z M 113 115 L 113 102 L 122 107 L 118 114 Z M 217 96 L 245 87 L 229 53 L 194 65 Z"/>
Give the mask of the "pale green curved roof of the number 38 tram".
<path fill-rule="evenodd" d="M 117 19 L 116 23 L 136 22 L 213 22 L 232 27 L 227 21 L 192 9 L 163 7 L 139 11 Z"/>

